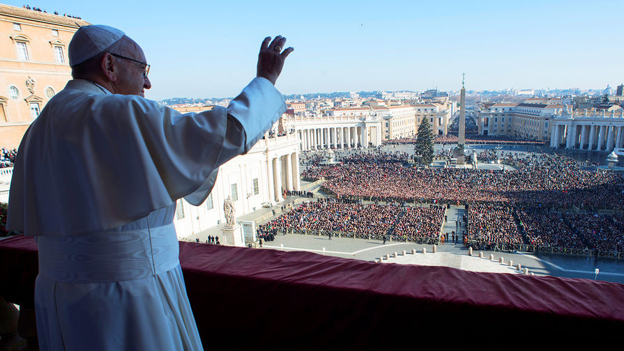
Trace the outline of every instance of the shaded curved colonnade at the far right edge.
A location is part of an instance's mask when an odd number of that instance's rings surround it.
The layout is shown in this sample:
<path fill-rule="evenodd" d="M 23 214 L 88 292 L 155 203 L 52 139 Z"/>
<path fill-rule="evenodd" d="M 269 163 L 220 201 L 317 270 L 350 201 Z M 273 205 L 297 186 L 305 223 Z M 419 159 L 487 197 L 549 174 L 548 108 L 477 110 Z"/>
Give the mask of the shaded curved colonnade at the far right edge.
<path fill-rule="evenodd" d="M 550 147 L 566 149 L 596 150 L 611 152 L 624 147 L 624 120 L 607 123 L 592 121 L 555 122 L 551 132 Z"/>

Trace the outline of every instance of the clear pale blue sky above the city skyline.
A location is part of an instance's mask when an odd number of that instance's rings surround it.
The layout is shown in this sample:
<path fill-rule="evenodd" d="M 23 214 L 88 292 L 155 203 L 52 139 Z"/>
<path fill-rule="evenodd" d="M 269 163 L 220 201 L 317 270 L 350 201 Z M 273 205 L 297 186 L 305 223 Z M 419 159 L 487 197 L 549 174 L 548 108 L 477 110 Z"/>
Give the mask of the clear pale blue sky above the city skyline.
<path fill-rule="evenodd" d="M 6 0 L 5 0 L 6 1 Z M 24 2 L 6 1 L 22 6 Z M 624 82 L 624 1 L 29 3 L 125 31 L 152 65 L 146 98 L 236 95 L 265 36 L 295 47 L 284 94 L 604 88 Z"/>

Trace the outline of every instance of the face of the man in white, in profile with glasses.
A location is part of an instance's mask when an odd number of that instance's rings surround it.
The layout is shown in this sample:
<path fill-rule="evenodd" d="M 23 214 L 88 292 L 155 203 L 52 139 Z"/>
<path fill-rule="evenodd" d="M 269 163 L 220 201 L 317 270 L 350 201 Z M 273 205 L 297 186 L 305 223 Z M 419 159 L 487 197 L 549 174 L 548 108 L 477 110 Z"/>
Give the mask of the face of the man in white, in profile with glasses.
<path fill-rule="evenodd" d="M 124 45 L 121 51 L 114 54 L 119 54 L 142 63 L 113 56 L 119 68 L 119 75 L 115 81 L 115 93 L 145 97 L 145 89 L 151 88 L 152 84 L 149 78 L 144 76 L 147 61 L 143 49 L 136 42 L 129 39 L 128 44 Z"/>

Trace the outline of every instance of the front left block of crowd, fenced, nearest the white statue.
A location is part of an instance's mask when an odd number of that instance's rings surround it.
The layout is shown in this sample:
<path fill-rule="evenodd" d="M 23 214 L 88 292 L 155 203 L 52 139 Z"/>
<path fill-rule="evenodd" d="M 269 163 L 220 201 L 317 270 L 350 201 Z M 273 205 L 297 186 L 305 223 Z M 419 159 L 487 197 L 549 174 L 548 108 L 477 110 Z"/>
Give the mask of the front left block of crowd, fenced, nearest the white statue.
<path fill-rule="evenodd" d="M 319 198 L 262 225 L 262 233 L 288 233 L 294 229 L 309 233 L 360 233 L 438 237 L 446 208 L 363 204 Z"/>

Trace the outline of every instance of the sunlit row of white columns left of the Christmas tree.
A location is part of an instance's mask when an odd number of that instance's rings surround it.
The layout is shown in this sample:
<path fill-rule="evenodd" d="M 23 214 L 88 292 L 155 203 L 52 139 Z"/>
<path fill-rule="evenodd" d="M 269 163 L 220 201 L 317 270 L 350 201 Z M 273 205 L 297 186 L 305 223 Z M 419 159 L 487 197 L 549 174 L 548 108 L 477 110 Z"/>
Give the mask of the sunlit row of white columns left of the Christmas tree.
<path fill-rule="evenodd" d="M 381 145 L 379 125 L 300 127 L 297 133 L 300 150 L 367 147 L 369 143 Z"/>

